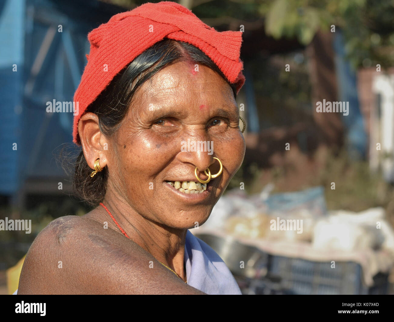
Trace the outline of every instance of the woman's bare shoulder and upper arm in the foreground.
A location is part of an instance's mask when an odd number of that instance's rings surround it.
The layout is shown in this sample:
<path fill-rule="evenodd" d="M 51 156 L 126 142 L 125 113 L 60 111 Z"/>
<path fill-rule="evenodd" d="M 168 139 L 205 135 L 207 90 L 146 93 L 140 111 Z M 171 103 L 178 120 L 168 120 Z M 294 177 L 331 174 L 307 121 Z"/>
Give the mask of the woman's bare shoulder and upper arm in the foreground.
<path fill-rule="evenodd" d="M 89 218 L 50 222 L 26 255 L 18 294 L 204 294 L 119 237 Z"/>

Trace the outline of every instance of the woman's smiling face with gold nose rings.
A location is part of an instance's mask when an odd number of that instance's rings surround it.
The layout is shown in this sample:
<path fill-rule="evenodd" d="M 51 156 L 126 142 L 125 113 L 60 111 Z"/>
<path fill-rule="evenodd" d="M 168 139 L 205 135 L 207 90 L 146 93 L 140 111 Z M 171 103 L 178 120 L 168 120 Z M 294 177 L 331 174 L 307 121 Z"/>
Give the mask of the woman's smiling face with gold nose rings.
<path fill-rule="evenodd" d="M 141 216 L 172 228 L 189 229 L 208 219 L 245 154 L 232 89 L 210 68 L 195 69 L 178 62 L 146 81 L 107 154 L 107 191 L 116 191 Z M 213 157 L 223 172 L 204 193 L 187 194 L 167 183 L 197 182 L 196 167 L 206 180 L 204 169 L 219 171 Z"/>

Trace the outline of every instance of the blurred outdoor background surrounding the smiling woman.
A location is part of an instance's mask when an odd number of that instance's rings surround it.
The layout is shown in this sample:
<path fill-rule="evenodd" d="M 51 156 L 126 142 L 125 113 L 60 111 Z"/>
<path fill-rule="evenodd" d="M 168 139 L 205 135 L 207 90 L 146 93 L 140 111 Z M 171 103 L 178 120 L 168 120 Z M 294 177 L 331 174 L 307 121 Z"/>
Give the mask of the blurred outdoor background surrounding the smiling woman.
<path fill-rule="evenodd" d="M 46 102 L 72 101 L 87 33 L 143 3 L 0 0 L 0 219 L 32 220 L 30 234 L 0 231 L 0 294 L 15 291 L 41 229 L 90 210 L 62 167 L 78 152 L 72 113 Z M 394 2 L 179 3 L 243 31 L 246 76 L 243 165 L 193 234 L 243 294 L 394 294 Z M 348 102 L 348 115 L 317 113 L 323 100 Z"/>

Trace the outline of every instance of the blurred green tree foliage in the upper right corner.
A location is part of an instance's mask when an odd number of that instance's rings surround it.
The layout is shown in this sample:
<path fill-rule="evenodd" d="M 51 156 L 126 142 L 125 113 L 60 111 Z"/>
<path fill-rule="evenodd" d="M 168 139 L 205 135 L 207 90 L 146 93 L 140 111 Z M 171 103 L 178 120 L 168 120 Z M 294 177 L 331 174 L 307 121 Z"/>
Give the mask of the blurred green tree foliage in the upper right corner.
<path fill-rule="evenodd" d="M 345 50 L 355 67 L 394 62 L 394 2 L 391 0 L 275 0 L 260 5 L 266 33 L 297 37 L 307 45 L 317 31 L 344 33 Z"/>

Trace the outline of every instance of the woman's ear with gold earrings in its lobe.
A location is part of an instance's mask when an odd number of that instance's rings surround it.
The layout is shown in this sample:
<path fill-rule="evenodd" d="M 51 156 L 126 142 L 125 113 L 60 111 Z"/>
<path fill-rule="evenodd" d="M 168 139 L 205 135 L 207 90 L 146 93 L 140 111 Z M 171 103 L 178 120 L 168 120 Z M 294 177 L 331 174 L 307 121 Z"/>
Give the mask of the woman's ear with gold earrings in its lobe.
<path fill-rule="evenodd" d="M 78 121 L 78 134 L 89 167 L 94 169 L 95 161 L 100 159 L 100 167 L 104 168 L 107 165 L 108 142 L 100 131 L 99 117 L 91 112 L 82 115 Z"/>

